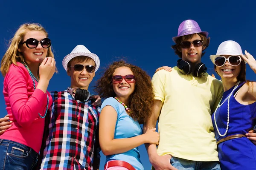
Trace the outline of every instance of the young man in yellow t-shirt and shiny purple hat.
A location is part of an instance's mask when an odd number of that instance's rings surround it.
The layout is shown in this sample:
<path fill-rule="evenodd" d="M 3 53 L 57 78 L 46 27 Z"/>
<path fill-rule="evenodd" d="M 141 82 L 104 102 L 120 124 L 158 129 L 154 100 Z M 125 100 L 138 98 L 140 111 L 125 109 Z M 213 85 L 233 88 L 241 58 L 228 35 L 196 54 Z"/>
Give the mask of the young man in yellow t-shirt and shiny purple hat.
<path fill-rule="evenodd" d="M 160 70 L 152 78 L 154 111 L 144 133 L 159 119 L 159 146 L 147 148 L 156 170 L 220 170 L 211 115 L 223 88 L 201 62 L 209 45 L 207 36 L 194 20 L 183 21 L 172 39 L 172 48 L 181 59 L 171 72 Z"/>

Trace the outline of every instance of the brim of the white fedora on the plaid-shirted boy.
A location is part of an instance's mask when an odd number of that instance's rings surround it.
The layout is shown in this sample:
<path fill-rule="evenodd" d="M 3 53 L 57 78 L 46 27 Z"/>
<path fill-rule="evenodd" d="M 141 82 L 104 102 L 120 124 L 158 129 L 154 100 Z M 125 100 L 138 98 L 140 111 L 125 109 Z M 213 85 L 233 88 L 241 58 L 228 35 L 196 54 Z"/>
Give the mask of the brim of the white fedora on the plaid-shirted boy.
<path fill-rule="evenodd" d="M 100 65 L 100 61 L 99 61 L 99 57 L 96 54 L 93 53 L 72 53 L 72 54 L 67 54 L 66 57 L 64 57 L 64 59 L 62 60 L 62 66 L 64 67 L 64 69 L 67 71 L 67 64 L 68 62 L 78 56 L 86 56 L 86 57 L 90 57 L 91 59 L 94 60 L 96 66 L 95 66 L 95 72 L 98 70 L 99 65 Z"/>

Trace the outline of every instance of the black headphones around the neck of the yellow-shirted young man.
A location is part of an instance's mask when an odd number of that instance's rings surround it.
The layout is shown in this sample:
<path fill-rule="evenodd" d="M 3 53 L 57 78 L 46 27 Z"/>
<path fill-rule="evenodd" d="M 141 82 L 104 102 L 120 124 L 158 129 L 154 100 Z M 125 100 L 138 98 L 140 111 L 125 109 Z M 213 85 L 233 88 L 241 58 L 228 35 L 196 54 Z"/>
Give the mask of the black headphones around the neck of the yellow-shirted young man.
<path fill-rule="evenodd" d="M 192 72 L 191 65 L 189 64 L 189 62 L 182 59 L 178 59 L 177 68 L 179 68 L 180 73 L 184 75 L 190 74 Z M 195 65 L 193 75 L 195 77 L 200 77 L 202 74 L 206 72 L 207 72 L 207 67 L 205 66 L 204 63 L 200 62 L 197 65 Z"/>

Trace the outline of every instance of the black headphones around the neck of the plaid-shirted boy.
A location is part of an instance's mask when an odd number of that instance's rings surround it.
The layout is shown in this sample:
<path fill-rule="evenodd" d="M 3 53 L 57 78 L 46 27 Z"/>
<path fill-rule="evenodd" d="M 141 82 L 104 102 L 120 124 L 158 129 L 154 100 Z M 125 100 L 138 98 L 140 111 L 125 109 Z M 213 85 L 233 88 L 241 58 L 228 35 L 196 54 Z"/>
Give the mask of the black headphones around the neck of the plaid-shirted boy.
<path fill-rule="evenodd" d="M 74 92 L 74 90 L 76 90 L 76 93 Z M 85 89 L 68 87 L 67 92 L 69 92 L 71 96 L 76 100 L 86 102 L 90 98 L 90 91 L 87 91 Z"/>

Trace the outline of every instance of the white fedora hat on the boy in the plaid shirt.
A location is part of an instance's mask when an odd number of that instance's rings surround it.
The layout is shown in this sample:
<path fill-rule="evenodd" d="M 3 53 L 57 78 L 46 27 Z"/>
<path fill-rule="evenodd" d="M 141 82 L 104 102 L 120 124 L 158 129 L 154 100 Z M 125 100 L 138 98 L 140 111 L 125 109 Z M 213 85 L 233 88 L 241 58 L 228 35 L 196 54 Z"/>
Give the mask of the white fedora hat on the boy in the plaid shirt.
<path fill-rule="evenodd" d="M 66 57 L 62 60 L 62 65 L 64 69 L 67 71 L 67 63 L 77 56 L 87 56 L 94 60 L 96 66 L 95 66 L 95 72 L 99 68 L 99 57 L 96 54 L 91 53 L 84 45 L 77 45 L 70 54 L 67 54 Z"/>

